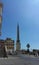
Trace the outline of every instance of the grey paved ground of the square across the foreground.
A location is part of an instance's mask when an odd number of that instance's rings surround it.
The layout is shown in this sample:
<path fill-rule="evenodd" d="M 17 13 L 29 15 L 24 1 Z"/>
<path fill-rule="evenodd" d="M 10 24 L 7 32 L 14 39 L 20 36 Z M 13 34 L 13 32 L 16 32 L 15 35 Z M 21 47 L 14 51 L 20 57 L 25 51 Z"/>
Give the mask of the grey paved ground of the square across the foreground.
<path fill-rule="evenodd" d="M 0 58 L 0 65 L 39 65 L 39 57 L 29 55 L 9 56 Z"/>

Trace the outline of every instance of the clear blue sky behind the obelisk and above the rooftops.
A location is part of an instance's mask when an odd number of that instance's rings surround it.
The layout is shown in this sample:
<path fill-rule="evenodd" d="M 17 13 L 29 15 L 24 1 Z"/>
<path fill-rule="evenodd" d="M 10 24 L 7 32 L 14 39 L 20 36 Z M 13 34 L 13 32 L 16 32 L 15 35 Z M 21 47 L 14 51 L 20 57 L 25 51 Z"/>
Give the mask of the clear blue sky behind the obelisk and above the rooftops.
<path fill-rule="evenodd" d="M 2 36 L 16 42 L 17 22 L 20 26 L 21 48 L 39 49 L 39 0 L 3 0 Z"/>

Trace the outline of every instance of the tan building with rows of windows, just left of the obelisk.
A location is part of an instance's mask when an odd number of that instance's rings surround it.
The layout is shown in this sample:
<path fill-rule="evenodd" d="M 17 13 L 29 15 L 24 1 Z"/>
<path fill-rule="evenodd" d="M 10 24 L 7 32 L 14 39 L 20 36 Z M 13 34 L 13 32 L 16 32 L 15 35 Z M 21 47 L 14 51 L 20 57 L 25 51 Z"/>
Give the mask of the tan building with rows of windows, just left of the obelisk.
<path fill-rule="evenodd" d="M 5 40 L 5 49 L 8 54 L 13 53 L 14 52 L 14 40 L 12 40 L 11 38 L 7 38 Z"/>

